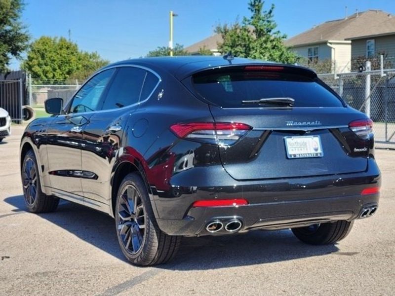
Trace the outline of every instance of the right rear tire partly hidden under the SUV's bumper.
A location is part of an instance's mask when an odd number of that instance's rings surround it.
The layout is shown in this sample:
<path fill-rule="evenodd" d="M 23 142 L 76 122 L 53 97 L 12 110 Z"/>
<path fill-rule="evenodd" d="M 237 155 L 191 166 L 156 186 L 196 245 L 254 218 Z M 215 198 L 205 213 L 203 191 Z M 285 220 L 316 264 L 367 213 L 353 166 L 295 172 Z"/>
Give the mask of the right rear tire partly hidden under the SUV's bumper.
<path fill-rule="evenodd" d="M 353 224 L 354 221 L 336 221 L 293 228 L 292 232 L 304 243 L 310 245 L 330 245 L 345 238 L 349 234 Z"/>

